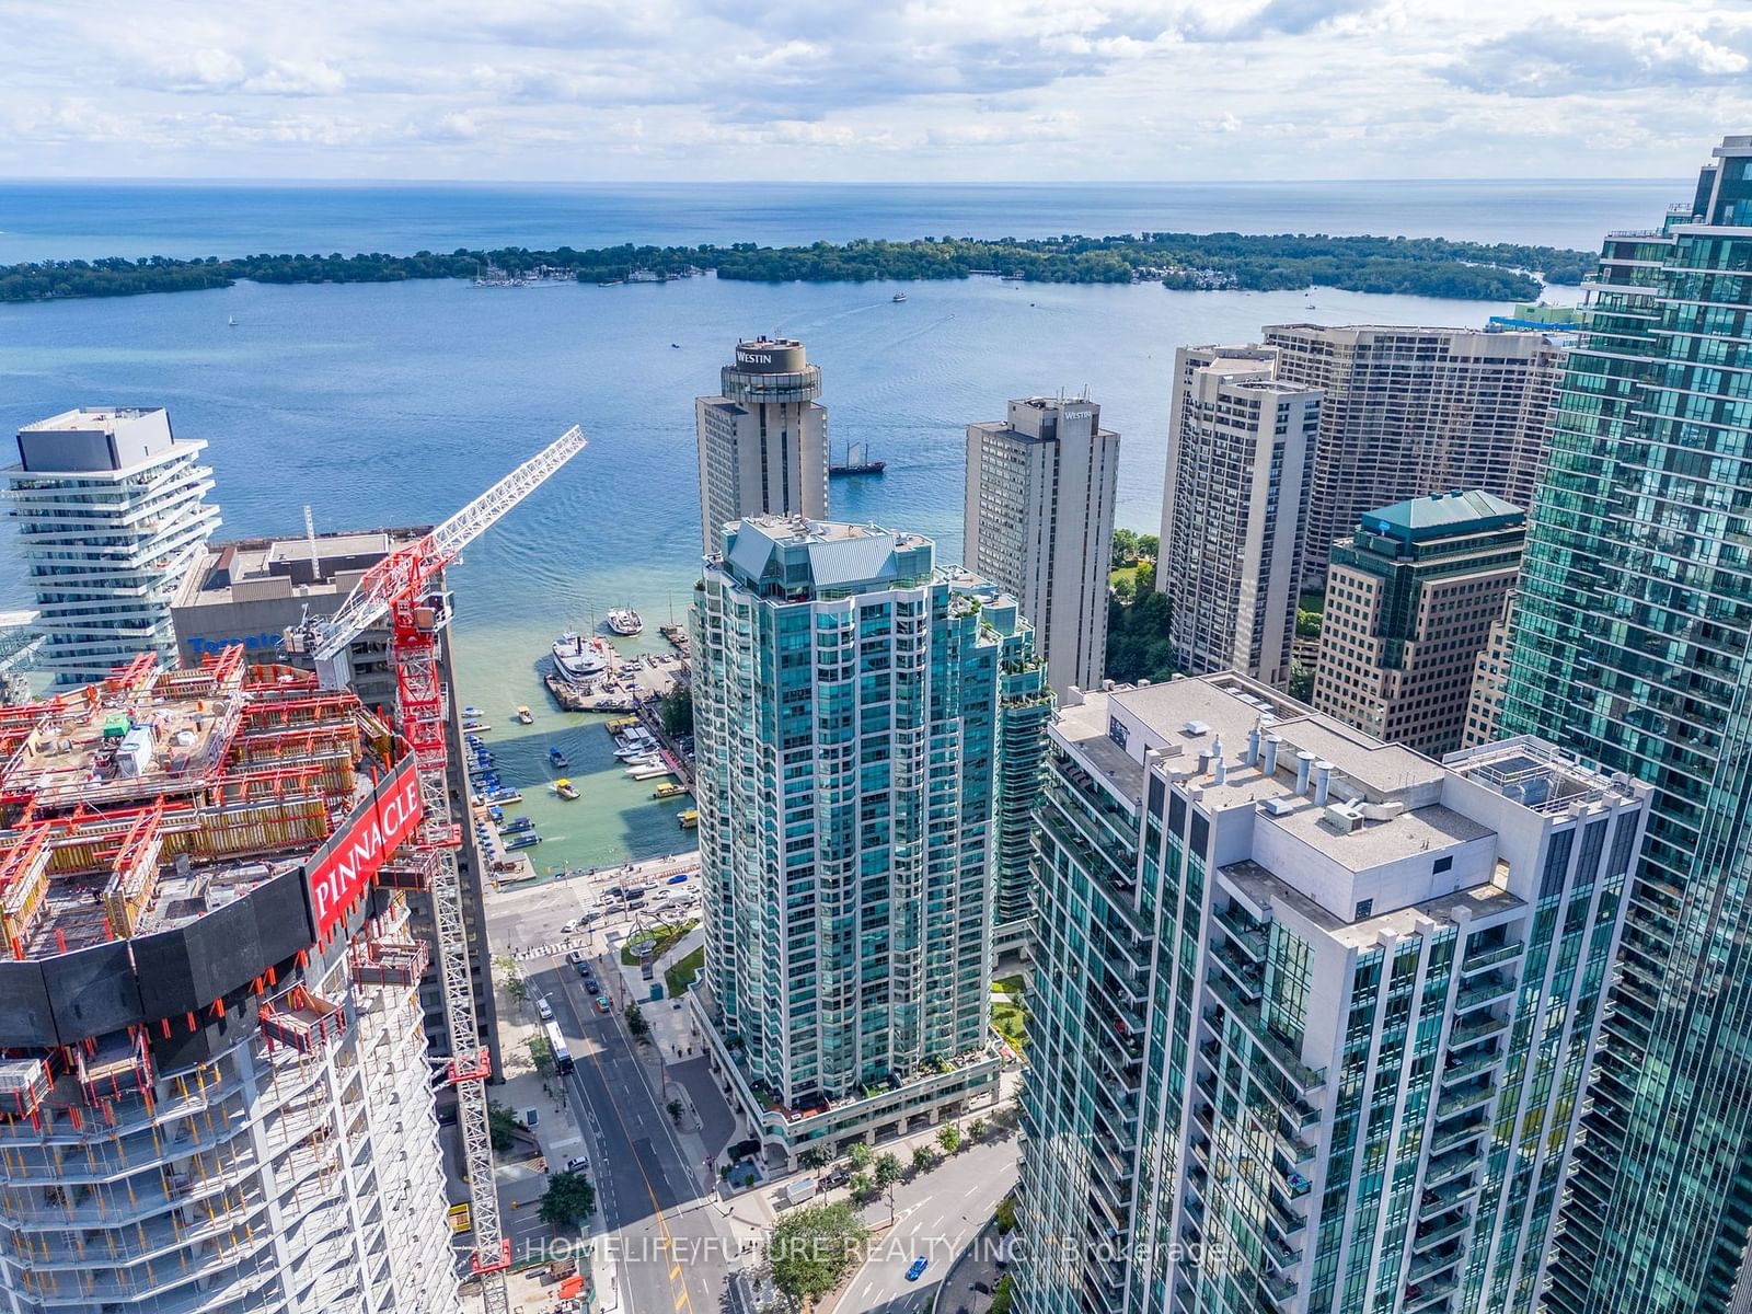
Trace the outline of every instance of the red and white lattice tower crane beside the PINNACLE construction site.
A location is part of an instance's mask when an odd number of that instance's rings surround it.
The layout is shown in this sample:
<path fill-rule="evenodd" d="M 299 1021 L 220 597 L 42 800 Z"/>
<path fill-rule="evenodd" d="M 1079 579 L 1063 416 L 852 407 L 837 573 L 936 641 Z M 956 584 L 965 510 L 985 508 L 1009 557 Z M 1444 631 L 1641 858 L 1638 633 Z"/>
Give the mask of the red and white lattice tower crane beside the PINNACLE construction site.
<path fill-rule="evenodd" d="M 506 1314 L 510 1309 L 505 1272 L 512 1267 L 512 1242 L 499 1221 L 499 1195 L 492 1179 L 492 1132 L 487 1120 L 492 1053 L 480 1041 L 470 981 L 463 876 L 457 867 L 463 827 L 450 815 L 447 696 L 438 671 L 438 631 L 450 622 L 450 599 L 442 592 L 438 576 L 468 543 L 583 447 L 583 431 L 573 426 L 429 534 L 377 562 L 333 617 L 307 618 L 287 631 L 287 648 L 315 659 L 319 683 L 340 689 L 350 673 L 347 653 L 354 639 L 389 618 L 396 715 L 401 738 L 413 753 L 424 804 L 413 857 L 422 885 L 431 892 L 445 1027 L 450 1035 L 447 1076 L 457 1093 L 457 1125 L 475 1228 L 473 1272 L 480 1277 L 487 1314 Z"/>

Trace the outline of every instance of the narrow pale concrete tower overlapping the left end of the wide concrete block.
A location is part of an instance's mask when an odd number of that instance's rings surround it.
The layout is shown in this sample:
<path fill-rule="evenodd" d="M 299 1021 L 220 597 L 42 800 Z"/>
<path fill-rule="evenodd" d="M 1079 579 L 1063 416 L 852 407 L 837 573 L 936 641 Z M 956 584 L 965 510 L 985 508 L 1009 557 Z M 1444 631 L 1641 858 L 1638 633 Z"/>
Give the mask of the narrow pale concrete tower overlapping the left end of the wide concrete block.
<path fill-rule="evenodd" d="M 1296 550 L 1318 389 L 1275 377 L 1261 347 L 1174 352 L 1156 589 L 1174 599 L 1174 657 L 1188 671 L 1289 680 Z"/>

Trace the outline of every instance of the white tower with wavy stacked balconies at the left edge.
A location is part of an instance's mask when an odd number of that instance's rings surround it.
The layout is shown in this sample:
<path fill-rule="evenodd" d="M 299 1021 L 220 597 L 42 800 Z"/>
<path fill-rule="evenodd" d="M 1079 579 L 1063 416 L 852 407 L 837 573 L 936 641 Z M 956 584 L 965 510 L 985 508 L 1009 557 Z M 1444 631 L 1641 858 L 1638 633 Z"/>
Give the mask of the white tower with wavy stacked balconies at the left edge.
<path fill-rule="evenodd" d="M 18 431 L 7 499 L 47 636 L 35 664 L 58 683 L 175 652 L 170 599 L 219 527 L 205 449 L 163 406 L 81 406 Z"/>

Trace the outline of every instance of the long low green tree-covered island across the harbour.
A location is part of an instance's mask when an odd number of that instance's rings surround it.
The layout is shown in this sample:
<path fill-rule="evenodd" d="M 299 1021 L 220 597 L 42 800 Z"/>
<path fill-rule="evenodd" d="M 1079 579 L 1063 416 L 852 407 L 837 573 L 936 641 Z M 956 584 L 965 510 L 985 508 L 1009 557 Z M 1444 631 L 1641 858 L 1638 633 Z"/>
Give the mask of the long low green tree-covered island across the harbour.
<path fill-rule="evenodd" d="M 808 247 L 603 247 L 594 251 L 457 249 L 413 256 L 242 256 L 238 259 L 70 259 L 0 266 L 0 301 L 70 296 L 137 296 L 254 282 L 399 282 L 470 279 L 482 266 L 510 275 L 540 266 L 583 282 L 625 279 L 632 270 L 680 275 L 711 268 L 753 282 L 865 282 L 965 279 L 999 273 L 1028 282 L 1160 280 L 1176 289 L 1344 287 L 1484 301 L 1526 300 L 1547 282 L 1577 284 L 1594 266 L 1582 251 L 1400 237 L 1249 237 L 1242 233 L 1144 233 L 1142 237 L 923 238 L 918 242 L 816 242 Z"/>

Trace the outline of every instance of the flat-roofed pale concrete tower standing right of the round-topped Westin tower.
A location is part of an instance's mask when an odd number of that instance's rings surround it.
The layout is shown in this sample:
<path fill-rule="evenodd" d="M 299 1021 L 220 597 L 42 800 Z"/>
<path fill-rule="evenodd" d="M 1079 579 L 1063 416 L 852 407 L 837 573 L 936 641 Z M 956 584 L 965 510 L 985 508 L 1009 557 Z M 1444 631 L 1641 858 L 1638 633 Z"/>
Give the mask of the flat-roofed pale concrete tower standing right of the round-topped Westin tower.
<path fill-rule="evenodd" d="M 967 426 L 964 559 L 1016 596 L 1053 692 L 1100 689 L 1120 434 L 1088 398 L 1027 398 Z"/>

